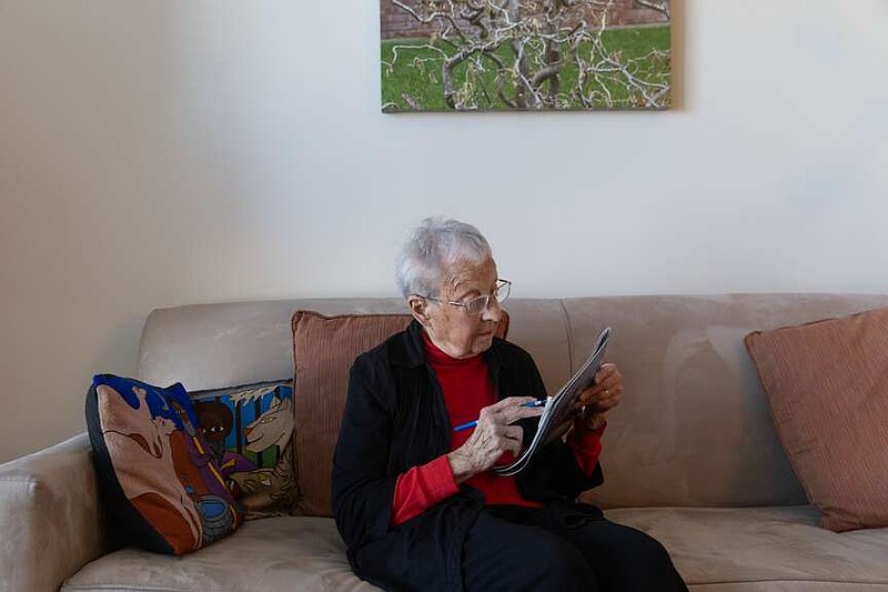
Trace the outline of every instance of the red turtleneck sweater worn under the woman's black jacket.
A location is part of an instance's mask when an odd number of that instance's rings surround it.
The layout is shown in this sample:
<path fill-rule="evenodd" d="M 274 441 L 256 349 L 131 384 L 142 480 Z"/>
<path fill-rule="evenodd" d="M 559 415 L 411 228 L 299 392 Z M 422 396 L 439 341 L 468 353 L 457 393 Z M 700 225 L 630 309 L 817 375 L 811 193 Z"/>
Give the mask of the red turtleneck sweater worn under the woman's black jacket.
<path fill-rule="evenodd" d="M 451 358 L 438 349 L 423 333 L 425 354 L 432 370 L 437 377 L 444 393 L 451 424 L 476 420 L 482 408 L 496 402 L 487 364 L 481 355 L 473 358 Z M 567 435 L 567 445 L 574 452 L 579 468 L 591 475 L 598 463 L 602 452 L 602 434 L 604 425 L 597 430 L 585 430 L 575 425 Z M 462 446 L 472 435 L 472 430 L 453 432 L 451 450 Z M 511 452 L 503 453 L 497 464 L 514 461 Z M 481 490 L 485 504 L 513 504 L 537 508 L 542 505 L 533 500 L 525 500 L 518 491 L 514 476 L 498 476 L 488 471 L 478 473 L 466 480 L 466 484 Z M 442 454 L 422 466 L 414 466 L 401 473 L 395 483 L 395 495 L 392 501 L 392 526 L 396 526 L 411 518 L 421 514 L 427 508 L 450 498 L 460 491 L 451 471 L 446 454 Z"/>

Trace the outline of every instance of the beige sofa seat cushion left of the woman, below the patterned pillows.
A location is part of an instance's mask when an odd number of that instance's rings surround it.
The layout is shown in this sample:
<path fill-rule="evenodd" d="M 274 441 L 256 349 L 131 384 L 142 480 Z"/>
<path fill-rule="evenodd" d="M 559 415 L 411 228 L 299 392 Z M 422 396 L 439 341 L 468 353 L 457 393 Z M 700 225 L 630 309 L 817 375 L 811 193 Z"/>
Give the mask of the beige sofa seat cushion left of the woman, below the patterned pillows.
<path fill-rule="evenodd" d="M 184 556 L 137 549 L 84 565 L 63 591 L 263 592 L 377 590 L 352 573 L 333 520 L 280 516 L 245 522 Z"/>

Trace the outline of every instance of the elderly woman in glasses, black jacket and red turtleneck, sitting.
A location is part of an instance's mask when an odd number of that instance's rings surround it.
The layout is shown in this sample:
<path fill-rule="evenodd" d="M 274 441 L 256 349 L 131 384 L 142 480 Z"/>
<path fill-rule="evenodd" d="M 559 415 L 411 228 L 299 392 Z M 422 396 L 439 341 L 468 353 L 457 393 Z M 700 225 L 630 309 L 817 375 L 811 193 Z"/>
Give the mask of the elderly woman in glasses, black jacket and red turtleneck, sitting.
<path fill-rule="evenodd" d="M 603 481 L 617 368 L 602 365 L 564 440 L 496 475 L 546 397 L 527 352 L 495 337 L 509 282 L 477 229 L 440 219 L 416 229 L 397 281 L 414 320 L 355 360 L 333 465 L 355 573 L 387 590 L 687 590 L 658 542 L 575 501 Z"/>

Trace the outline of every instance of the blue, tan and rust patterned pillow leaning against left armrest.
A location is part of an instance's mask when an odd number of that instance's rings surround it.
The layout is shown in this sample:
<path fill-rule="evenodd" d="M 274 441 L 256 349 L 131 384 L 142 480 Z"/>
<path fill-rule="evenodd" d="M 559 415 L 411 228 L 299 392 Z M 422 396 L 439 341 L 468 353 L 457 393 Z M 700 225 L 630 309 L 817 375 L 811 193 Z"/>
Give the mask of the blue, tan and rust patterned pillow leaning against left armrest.
<path fill-rule="evenodd" d="M 118 544 L 181 555 L 238 526 L 240 511 L 182 384 L 99 374 L 87 394 L 87 428 Z"/>

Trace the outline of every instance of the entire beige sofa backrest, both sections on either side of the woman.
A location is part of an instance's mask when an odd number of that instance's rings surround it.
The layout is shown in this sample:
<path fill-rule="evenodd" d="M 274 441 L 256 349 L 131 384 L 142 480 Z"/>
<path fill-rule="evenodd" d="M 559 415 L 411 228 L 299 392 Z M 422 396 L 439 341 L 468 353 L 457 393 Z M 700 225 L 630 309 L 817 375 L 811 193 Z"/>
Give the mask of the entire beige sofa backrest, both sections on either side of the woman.
<path fill-rule="evenodd" d="M 740 294 L 511 299 L 509 341 L 534 357 L 554 392 L 605 325 L 608 360 L 625 377 L 609 419 L 605 484 L 610 506 L 803 504 L 805 494 L 775 433 L 743 338 L 888 305 L 888 295 Z M 153 311 L 138 378 L 215 389 L 293 373 L 290 319 L 403 312 L 398 299 L 303 299 L 195 304 Z"/>

